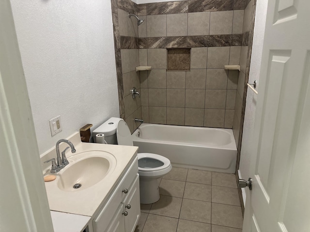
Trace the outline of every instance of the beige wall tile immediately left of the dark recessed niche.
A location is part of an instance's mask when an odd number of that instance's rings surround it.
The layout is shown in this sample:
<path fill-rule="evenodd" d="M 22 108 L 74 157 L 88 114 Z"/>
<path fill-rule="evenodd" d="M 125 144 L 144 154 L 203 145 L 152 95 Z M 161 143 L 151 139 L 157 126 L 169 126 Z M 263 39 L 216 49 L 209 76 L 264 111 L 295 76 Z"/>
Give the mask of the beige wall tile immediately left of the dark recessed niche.
<path fill-rule="evenodd" d="M 147 49 L 147 63 L 152 69 L 167 68 L 167 49 L 155 48 Z"/>

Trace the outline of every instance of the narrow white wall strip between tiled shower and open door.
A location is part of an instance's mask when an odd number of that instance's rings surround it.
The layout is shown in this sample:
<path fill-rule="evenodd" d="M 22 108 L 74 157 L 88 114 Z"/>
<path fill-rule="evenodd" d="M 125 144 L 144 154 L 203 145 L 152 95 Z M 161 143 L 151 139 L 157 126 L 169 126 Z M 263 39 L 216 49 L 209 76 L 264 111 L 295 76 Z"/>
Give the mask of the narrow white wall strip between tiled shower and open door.
<path fill-rule="evenodd" d="M 248 83 L 253 83 L 254 80 L 256 80 L 258 83 L 257 86 L 259 86 L 259 78 L 262 62 L 266 13 L 267 13 L 267 0 L 257 1 L 251 64 L 248 80 Z M 258 90 L 258 94 L 260 94 L 259 88 L 256 87 L 256 89 Z M 251 177 L 249 176 L 249 167 L 251 161 L 250 160 L 251 154 L 255 152 L 252 150 L 251 144 L 252 144 L 252 134 L 255 120 L 256 100 L 257 95 L 254 94 L 254 92 L 248 88 L 246 112 L 245 112 L 243 135 L 242 135 L 240 165 L 239 165 L 239 170 L 241 174 L 240 178 L 242 177 L 243 179 L 248 179 L 248 177 Z"/>

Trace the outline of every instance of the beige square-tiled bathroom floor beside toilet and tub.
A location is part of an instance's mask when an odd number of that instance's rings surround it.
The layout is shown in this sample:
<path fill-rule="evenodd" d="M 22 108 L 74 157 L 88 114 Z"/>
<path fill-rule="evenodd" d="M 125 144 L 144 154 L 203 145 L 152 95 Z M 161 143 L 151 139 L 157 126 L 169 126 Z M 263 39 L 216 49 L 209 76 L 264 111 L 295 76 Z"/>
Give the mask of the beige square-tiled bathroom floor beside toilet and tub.
<path fill-rule="evenodd" d="M 234 174 L 173 167 L 159 192 L 158 202 L 141 204 L 135 232 L 242 232 Z"/>

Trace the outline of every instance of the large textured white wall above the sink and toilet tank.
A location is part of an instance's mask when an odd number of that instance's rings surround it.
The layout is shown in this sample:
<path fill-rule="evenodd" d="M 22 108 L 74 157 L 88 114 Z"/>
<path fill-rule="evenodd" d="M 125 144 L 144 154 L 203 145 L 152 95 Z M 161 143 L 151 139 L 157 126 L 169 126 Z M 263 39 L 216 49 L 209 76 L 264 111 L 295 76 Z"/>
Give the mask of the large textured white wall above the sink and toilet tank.
<path fill-rule="evenodd" d="M 11 0 L 40 154 L 119 116 L 110 0 Z M 48 120 L 61 115 L 51 137 Z"/>

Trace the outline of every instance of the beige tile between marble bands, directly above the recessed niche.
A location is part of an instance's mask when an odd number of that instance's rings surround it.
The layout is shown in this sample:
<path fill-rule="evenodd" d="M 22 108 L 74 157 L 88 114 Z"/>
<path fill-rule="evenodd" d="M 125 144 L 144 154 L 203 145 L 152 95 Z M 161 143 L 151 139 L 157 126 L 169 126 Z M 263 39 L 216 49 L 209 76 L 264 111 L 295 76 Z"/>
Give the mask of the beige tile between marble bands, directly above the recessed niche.
<path fill-rule="evenodd" d="M 187 14 L 167 14 L 167 36 L 187 35 Z"/>

